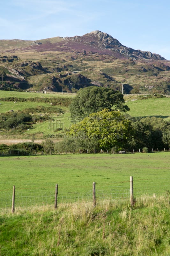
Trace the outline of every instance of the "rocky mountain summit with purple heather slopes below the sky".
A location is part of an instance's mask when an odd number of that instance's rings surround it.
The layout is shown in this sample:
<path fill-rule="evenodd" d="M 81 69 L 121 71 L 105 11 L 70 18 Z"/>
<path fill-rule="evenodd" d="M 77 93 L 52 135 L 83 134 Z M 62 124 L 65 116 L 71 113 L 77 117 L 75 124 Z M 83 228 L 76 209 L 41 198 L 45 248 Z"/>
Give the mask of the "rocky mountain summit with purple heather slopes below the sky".
<path fill-rule="evenodd" d="M 32 42 L 32 49 L 42 52 L 46 51 L 65 51 L 72 50 L 98 52 L 100 54 L 107 54 L 112 57 L 122 59 L 152 59 L 165 60 L 162 56 L 152 52 L 141 50 L 134 50 L 132 48 L 122 45 L 117 39 L 99 30 L 92 31 L 83 36 L 73 37 L 56 37 L 51 39 L 39 40 Z"/>

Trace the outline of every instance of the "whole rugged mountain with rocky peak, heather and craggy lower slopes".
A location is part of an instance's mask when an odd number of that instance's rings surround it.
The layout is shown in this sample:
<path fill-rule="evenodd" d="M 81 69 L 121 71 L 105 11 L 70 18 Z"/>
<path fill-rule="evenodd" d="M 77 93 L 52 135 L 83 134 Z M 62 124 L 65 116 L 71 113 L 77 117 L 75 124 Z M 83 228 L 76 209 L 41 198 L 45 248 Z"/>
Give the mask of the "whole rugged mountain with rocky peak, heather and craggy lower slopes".
<path fill-rule="evenodd" d="M 170 61 L 101 31 L 37 41 L 0 40 L 2 89 L 76 92 L 96 85 L 170 94 Z"/>

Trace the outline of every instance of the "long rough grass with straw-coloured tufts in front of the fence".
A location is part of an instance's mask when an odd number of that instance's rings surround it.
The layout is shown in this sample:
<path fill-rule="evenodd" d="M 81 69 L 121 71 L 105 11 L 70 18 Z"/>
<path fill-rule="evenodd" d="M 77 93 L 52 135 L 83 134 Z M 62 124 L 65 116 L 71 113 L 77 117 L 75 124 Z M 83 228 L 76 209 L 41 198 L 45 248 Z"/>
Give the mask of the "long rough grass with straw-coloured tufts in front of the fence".
<path fill-rule="evenodd" d="M 169 195 L 1 212 L 0 255 L 170 255 Z"/>

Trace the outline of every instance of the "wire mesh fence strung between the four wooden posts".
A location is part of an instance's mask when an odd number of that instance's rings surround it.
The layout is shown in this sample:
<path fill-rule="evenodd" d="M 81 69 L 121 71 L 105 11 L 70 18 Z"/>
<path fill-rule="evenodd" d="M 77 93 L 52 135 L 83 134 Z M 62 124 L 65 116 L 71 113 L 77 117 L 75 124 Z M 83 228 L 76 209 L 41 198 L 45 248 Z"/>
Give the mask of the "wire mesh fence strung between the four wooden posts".
<path fill-rule="evenodd" d="M 146 181 L 146 182 L 145 182 Z M 133 187 L 134 197 L 142 195 L 159 196 L 166 193 L 165 190 L 156 191 L 154 180 L 137 180 Z M 12 206 L 12 188 L 0 190 L 0 208 L 11 208 Z M 92 183 L 91 185 L 68 186 L 68 184 L 58 184 L 58 198 L 60 203 L 73 203 L 77 201 L 92 201 Z M 96 201 L 104 199 L 129 199 L 130 184 L 128 181 L 108 182 L 105 184 L 96 183 Z M 15 192 L 15 207 L 30 207 L 55 204 L 55 186 L 54 188 L 17 188 Z"/>

